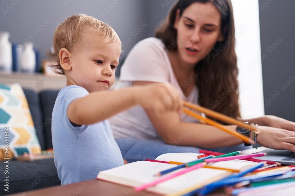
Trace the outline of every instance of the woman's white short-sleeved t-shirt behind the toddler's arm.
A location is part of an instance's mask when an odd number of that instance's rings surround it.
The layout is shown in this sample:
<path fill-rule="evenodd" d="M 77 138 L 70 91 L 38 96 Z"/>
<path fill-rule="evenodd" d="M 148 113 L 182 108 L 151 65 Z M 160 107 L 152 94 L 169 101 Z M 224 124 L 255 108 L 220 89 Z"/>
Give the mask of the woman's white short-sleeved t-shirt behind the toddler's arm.
<path fill-rule="evenodd" d="M 121 98 L 123 99 L 132 91 L 134 81 L 162 82 L 171 83 L 175 86 L 178 90 L 175 93 L 180 93 L 183 100 L 198 104 L 196 86 L 191 90 L 188 97 L 181 90 L 180 85 L 185 88 L 192 80 L 188 78 L 187 81 L 178 84 L 168 58 L 169 52 L 170 50 L 165 47 L 164 43 L 155 37 L 138 42 L 127 55 L 121 68 L 120 81 L 116 88 L 130 87 L 121 93 Z M 192 73 L 193 77 L 196 77 L 196 73 Z M 184 113 L 181 114 L 181 120 L 184 122 L 198 122 Z M 146 115 L 145 110 L 139 105 L 109 118 L 109 122 L 115 139 L 126 138 L 126 140 L 130 141 L 134 138 L 162 140 Z"/>

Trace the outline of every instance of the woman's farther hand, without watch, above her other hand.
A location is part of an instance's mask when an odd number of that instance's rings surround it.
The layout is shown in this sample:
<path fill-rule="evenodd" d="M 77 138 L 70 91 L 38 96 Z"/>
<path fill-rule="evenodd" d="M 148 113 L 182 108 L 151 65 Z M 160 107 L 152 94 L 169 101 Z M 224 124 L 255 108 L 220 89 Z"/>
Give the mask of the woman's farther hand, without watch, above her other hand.
<path fill-rule="evenodd" d="M 273 115 L 265 115 L 265 123 L 269 127 L 275 127 L 275 128 L 280 128 L 280 129 L 285 129 L 285 130 L 290 130 L 290 131 L 295 131 L 295 123 L 283 118 L 279 118 L 277 116 Z"/>

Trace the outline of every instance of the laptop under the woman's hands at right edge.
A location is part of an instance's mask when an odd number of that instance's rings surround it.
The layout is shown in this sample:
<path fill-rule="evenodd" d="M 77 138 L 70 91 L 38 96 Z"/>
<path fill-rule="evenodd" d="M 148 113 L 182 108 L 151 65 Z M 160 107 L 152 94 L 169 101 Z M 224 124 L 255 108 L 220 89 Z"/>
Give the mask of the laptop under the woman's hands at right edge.
<path fill-rule="evenodd" d="M 281 163 L 282 165 L 295 165 L 295 153 L 289 150 L 273 150 L 271 148 L 266 148 L 263 146 L 255 148 L 250 148 L 247 150 L 242 150 L 240 155 L 248 155 L 253 153 L 267 153 L 263 157 L 253 157 L 255 159 L 269 160 Z"/>

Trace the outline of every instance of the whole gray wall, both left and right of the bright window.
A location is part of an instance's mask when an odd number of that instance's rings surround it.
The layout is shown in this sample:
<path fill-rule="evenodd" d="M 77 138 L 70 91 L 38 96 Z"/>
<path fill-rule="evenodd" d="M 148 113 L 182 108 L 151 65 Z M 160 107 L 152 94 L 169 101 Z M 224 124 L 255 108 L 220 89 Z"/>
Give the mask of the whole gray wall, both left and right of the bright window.
<path fill-rule="evenodd" d="M 105 12 L 116 0 L 1 0 L 0 1 L 0 31 L 11 33 L 12 43 L 23 43 L 30 36 L 32 42 L 40 51 L 40 59 L 45 58 L 45 49 L 52 45 L 55 28 L 67 16 L 85 13 L 108 22 L 117 31 L 121 41 L 131 42 L 124 48 L 121 59 L 126 57 L 132 46 L 138 41 L 153 36 L 155 28 L 165 19 L 176 0 L 118 0 L 109 13 Z M 13 4 L 17 2 L 17 4 Z M 68 2 L 65 4 L 65 2 Z M 267 57 L 262 61 L 263 93 L 265 113 L 277 115 L 295 121 L 295 82 L 290 76 L 295 74 L 295 1 L 294 0 L 259 0 L 260 7 L 260 37 L 261 54 Z M 7 8 L 13 7 L 13 8 Z M 265 8 L 265 9 L 263 9 Z M 5 10 L 3 12 L 3 10 Z M 106 13 L 102 16 L 101 13 Z M 48 24 L 43 20 L 49 21 Z M 41 26 L 40 32 L 36 28 Z M 136 37 L 131 33 L 136 31 L 141 23 L 148 24 Z M 37 34 L 38 33 L 38 34 Z M 283 41 L 276 46 L 277 38 Z M 28 40 L 28 39 L 27 39 Z M 277 41 L 277 43 L 279 43 Z M 269 53 L 270 45 L 276 46 Z M 251 78 L 249 78 L 250 80 Z M 292 83 L 288 83 L 289 81 Z M 287 88 L 281 86 L 288 85 Z M 277 95 L 276 95 L 277 93 Z M 275 98 L 273 98 L 275 97 Z M 272 101 L 272 102 L 271 102 Z"/>

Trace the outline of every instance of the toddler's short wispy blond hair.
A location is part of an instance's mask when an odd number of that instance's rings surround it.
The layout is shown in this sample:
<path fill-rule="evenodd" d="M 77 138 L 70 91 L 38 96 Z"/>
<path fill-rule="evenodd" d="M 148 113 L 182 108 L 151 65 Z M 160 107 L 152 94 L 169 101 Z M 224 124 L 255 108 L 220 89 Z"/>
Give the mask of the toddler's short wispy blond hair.
<path fill-rule="evenodd" d="M 47 56 L 55 64 L 50 65 L 56 73 L 65 74 L 60 66 L 58 53 L 66 48 L 73 51 L 86 33 L 98 33 L 104 43 L 115 43 L 121 48 L 121 41 L 114 29 L 104 22 L 85 14 L 75 14 L 66 18 L 54 31 L 53 50 L 47 51 Z"/>

